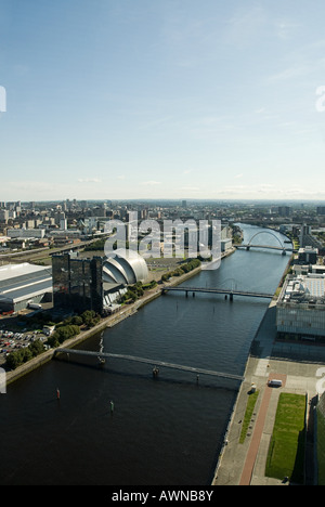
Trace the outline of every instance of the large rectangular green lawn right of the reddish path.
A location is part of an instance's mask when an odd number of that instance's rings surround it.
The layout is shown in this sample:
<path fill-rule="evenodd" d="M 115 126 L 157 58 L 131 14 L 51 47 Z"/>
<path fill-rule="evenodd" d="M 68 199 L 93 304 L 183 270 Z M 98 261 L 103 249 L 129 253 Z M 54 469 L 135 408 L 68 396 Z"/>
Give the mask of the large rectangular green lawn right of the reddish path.
<path fill-rule="evenodd" d="M 303 394 L 280 395 L 266 459 L 266 477 L 288 477 L 294 483 L 303 482 L 304 414 Z"/>

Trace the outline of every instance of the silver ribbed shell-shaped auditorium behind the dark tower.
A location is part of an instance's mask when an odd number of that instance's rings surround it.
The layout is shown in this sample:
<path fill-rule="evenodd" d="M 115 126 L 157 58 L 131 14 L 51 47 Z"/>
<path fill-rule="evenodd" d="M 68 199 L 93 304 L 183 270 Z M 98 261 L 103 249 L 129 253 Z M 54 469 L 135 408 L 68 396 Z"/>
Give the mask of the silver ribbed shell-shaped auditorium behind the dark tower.
<path fill-rule="evenodd" d="M 148 270 L 145 260 L 134 250 L 119 248 L 114 256 L 104 259 L 103 282 L 133 285 L 145 282 Z"/>

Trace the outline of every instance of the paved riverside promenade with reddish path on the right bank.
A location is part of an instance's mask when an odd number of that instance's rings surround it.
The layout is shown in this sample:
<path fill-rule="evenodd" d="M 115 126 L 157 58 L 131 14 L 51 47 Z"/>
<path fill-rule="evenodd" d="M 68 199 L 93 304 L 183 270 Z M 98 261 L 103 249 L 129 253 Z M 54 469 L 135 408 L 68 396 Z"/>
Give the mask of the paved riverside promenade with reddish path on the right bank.
<path fill-rule="evenodd" d="M 289 484 L 288 481 L 268 478 L 264 473 L 278 396 L 281 392 L 307 394 L 310 402 L 316 395 L 316 385 L 320 381 L 317 370 L 324 367 L 325 348 L 315 347 L 313 358 L 310 353 L 306 358 L 307 349 L 297 344 L 295 350 L 294 346 L 290 347 L 290 352 L 296 359 L 288 359 L 288 354 L 286 358 L 281 358 L 284 350 L 282 346 L 275 343 L 275 302 L 272 302 L 255 337 L 251 349 L 253 355 L 252 353 L 249 355 L 246 365 L 245 380 L 231 416 L 212 485 Z M 272 378 L 281 379 L 283 386 L 269 387 L 268 380 Z M 259 396 L 245 442 L 239 443 L 248 392 L 252 384 L 259 391 Z M 311 455 L 307 453 L 307 457 L 309 485 L 314 485 L 316 479 L 313 453 Z"/>

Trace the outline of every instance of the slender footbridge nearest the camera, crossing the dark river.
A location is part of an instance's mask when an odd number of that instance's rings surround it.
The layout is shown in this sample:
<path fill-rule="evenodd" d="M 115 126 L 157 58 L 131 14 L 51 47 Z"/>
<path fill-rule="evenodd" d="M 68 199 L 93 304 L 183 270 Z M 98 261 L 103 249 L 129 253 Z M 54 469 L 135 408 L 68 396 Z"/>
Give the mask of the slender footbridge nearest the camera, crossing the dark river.
<path fill-rule="evenodd" d="M 151 360 L 151 359 L 145 359 L 145 358 L 136 358 L 134 355 L 112 354 L 109 352 L 93 352 L 89 350 L 65 349 L 65 348 L 56 349 L 54 356 L 58 353 L 94 356 L 100 363 L 103 362 L 107 358 L 107 359 L 118 359 L 118 360 L 133 361 L 136 363 L 151 364 L 152 366 L 154 366 L 153 373 L 157 372 L 157 366 L 162 366 L 166 368 L 180 369 L 182 372 L 195 373 L 196 375 L 210 375 L 212 377 L 226 378 L 231 380 L 239 380 L 239 381 L 244 380 L 244 377 L 242 377 L 240 375 L 214 372 L 213 369 L 195 368 L 192 366 L 184 366 L 181 364 L 167 363 L 165 361 L 156 361 L 156 360 Z"/>

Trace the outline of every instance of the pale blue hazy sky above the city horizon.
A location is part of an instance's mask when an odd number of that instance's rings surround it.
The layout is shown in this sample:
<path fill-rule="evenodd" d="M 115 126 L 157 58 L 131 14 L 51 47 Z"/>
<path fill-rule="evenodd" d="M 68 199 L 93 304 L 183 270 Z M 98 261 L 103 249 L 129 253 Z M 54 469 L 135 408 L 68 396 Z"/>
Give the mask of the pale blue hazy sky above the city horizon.
<path fill-rule="evenodd" d="M 324 0 L 0 0 L 0 202 L 325 200 Z"/>

